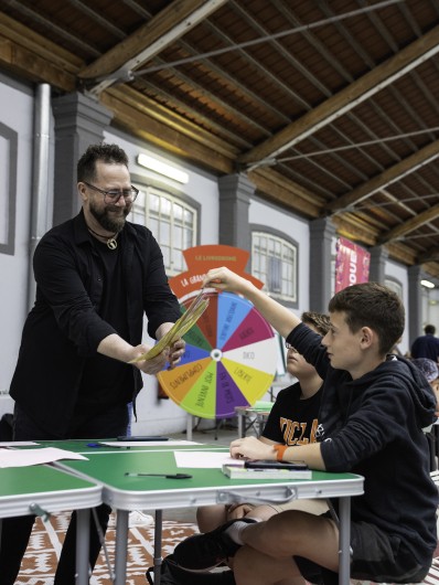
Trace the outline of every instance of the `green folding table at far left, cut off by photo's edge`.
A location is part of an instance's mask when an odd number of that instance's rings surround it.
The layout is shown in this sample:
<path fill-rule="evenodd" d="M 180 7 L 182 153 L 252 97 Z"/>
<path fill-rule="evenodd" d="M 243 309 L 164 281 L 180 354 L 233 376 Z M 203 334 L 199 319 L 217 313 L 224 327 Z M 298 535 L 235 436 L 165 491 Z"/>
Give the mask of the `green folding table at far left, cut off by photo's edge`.
<path fill-rule="evenodd" d="M 89 509 L 101 503 L 101 488 L 50 465 L 0 469 L 0 536 L 3 518 L 77 510 L 76 583 L 88 584 Z"/>

